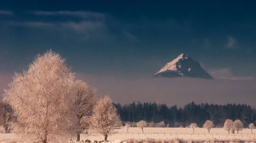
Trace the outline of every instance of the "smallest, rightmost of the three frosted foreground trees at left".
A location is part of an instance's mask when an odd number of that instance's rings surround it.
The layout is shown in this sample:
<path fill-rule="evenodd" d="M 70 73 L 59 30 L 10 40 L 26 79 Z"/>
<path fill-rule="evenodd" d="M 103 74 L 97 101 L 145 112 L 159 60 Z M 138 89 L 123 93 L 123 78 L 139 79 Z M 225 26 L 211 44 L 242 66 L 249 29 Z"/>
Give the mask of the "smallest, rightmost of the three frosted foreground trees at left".
<path fill-rule="evenodd" d="M 90 128 L 96 133 L 103 135 L 106 141 L 108 136 L 114 134 L 114 127 L 121 124 L 117 109 L 113 106 L 109 96 L 100 99 L 93 109 L 93 116 L 90 122 Z"/>

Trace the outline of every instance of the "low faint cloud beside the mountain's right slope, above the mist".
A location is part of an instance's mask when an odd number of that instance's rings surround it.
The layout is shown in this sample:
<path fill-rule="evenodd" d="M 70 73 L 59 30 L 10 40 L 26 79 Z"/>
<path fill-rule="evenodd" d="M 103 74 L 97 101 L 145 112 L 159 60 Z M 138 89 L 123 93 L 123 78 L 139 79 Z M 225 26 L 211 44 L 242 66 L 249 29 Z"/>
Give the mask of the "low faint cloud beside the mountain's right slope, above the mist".
<path fill-rule="evenodd" d="M 228 68 L 214 69 L 208 71 L 214 79 L 228 79 L 228 80 L 255 80 L 254 77 L 236 77 Z"/>

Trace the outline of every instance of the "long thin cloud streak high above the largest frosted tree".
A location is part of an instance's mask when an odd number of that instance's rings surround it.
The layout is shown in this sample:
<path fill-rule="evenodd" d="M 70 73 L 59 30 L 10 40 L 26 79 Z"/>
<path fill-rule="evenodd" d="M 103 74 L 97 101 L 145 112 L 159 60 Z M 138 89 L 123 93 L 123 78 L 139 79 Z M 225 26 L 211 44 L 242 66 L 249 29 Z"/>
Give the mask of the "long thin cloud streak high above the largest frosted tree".
<path fill-rule="evenodd" d="M 90 11 L 32 11 L 34 15 L 48 15 L 48 16 L 77 16 L 81 18 L 104 19 L 105 15 L 98 12 Z"/>

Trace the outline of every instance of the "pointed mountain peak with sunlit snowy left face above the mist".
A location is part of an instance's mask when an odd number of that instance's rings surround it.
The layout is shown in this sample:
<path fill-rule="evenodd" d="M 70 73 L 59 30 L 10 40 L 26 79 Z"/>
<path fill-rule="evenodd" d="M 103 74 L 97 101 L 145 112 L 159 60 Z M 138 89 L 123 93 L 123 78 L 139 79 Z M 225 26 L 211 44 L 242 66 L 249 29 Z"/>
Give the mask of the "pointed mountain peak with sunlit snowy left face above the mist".
<path fill-rule="evenodd" d="M 167 63 L 160 71 L 153 75 L 154 77 L 195 77 L 201 79 L 213 79 L 200 64 L 188 57 L 180 54 L 172 62 Z"/>

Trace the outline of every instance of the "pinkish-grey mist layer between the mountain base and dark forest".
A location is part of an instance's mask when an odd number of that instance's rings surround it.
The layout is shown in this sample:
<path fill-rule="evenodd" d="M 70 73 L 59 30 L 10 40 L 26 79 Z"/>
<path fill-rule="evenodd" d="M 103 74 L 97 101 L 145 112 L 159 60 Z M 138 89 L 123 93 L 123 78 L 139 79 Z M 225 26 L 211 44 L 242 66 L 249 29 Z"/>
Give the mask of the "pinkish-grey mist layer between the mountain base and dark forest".
<path fill-rule="evenodd" d="M 204 80 L 187 77 L 177 78 L 123 78 L 93 76 L 76 73 L 98 90 L 100 96 L 109 94 L 114 103 L 159 102 L 167 106 L 184 106 L 195 103 L 240 103 L 254 106 L 256 80 Z"/>

